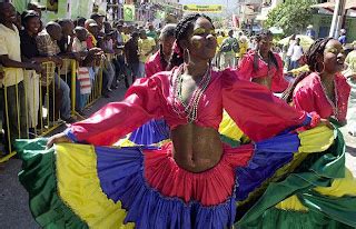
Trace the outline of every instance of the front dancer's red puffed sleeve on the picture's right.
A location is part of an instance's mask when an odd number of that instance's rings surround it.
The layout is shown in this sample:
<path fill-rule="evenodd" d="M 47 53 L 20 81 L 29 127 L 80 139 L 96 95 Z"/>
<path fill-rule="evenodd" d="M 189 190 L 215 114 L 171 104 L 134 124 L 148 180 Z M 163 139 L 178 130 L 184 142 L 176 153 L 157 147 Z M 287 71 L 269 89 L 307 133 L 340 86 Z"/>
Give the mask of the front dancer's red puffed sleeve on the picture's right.
<path fill-rule="evenodd" d="M 222 72 L 222 106 L 251 140 L 259 141 L 310 123 L 312 117 L 305 111 L 289 107 L 264 86 L 239 80 L 237 73 Z"/>

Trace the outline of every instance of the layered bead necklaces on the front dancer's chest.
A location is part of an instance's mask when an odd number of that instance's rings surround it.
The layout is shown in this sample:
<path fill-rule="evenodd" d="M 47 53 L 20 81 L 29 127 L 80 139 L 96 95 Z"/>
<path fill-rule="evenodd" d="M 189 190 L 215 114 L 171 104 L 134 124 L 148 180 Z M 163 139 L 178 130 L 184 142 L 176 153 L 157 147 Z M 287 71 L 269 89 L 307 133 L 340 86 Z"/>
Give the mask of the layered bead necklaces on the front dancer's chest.
<path fill-rule="evenodd" d="M 182 99 L 181 89 L 182 89 L 182 72 L 185 70 L 185 64 L 179 67 L 178 73 L 176 76 L 176 80 L 174 81 L 174 111 L 179 116 L 179 118 L 187 118 L 189 123 L 192 123 L 198 118 L 198 106 L 201 96 L 206 91 L 209 86 L 211 79 L 211 68 L 209 67 L 205 72 L 202 79 L 200 80 L 198 87 L 194 90 L 188 103 L 186 103 Z M 181 103 L 184 110 L 177 108 L 177 103 Z"/>

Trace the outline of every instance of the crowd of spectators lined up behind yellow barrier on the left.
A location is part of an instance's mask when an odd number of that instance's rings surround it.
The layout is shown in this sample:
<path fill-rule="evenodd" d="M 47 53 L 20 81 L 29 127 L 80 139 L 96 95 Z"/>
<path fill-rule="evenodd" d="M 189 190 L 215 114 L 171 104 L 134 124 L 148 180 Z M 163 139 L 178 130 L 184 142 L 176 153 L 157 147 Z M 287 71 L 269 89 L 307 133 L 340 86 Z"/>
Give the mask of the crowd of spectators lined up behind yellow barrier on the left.
<path fill-rule="evenodd" d="M 33 4 L 19 13 L 11 3 L 0 2 L 2 151 L 17 138 L 37 136 L 43 106 L 48 116 L 55 117 L 52 122 L 78 120 L 71 112 L 72 82 L 68 76 L 73 69 L 69 60 L 77 62 L 76 110 L 82 114 L 97 80 L 102 80 L 100 93 L 108 98 L 120 80 L 128 88 L 145 76 L 145 62 L 157 51 L 158 37 L 152 24 L 147 24 L 146 31 L 122 20 L 106 21 L 100 13 L 44 23 L 41 9 Z M 44 68 L 47 62 L 56 66 L 52 73 Z M 53 101 L 46 103 L 46 96 Z"/>

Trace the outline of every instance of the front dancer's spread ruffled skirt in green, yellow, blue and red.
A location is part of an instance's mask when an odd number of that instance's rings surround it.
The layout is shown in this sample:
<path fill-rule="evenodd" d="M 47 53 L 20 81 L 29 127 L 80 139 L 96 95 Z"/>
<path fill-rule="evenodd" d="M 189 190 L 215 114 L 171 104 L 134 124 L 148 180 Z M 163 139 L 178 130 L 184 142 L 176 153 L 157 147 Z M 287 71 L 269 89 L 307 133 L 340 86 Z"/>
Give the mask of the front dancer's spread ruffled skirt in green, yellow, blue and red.
<path fill-rule="evenodd" d="M 46 150 L 46 139 L 23 140 L 19 178 L 44 228 L 356 227 L 355 180 L 336 130 L 225 145 L 200 173 L 179 168 L 171 147 Z"/>

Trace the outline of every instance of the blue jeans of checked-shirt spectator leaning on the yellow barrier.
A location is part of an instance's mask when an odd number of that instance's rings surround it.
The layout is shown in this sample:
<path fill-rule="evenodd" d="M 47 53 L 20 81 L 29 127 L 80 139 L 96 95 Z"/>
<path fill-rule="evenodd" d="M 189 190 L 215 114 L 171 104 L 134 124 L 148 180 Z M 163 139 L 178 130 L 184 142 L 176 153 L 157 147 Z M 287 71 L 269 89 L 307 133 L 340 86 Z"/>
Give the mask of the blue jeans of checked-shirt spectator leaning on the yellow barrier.
<path fill-rule="evenodd" d="M 65 80 L 62 80 L 58 74 L 55 74 L 55 86 L 59 88 L 62 92 L 62 100 L 60 103 L 60 116 L 62 119 L 70 118 L 70 89 Z"/>

